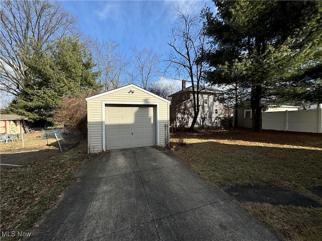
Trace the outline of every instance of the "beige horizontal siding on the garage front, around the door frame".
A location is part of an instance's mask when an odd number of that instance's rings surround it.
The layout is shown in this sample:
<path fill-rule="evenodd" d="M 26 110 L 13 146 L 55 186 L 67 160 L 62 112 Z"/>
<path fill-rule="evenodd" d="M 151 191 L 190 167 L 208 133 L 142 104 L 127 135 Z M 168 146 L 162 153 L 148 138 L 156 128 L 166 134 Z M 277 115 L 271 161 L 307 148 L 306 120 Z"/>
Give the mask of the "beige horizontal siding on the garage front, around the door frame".
<path fill-rule="evenodd" d="M 130 88 L 134 90 L 129 93 Z M 128 85 L 116 90 L 112 90 L 97 97 L 93 96 L 87 99 L 88 111 L 88 148 L 89 152 L 103 151 L 103 108 L 105 105 L 110 104 L 138 104 L 145 105 L 158 104 L 158 129 L 159 140 L 156 140 L 156 145 L 166 146 L 169 142 L 169 101 L 158 98 L 153 94 L 142 91 L 141 88 L 135 85 Z M 104 104 L 106 103 L 106 104 Z M 104 107 L 103 107 L 104 106 Z M 157 115 L 157 114 L 156 114 Z M 156 116 L 157 117 L 157 116 Z"/>

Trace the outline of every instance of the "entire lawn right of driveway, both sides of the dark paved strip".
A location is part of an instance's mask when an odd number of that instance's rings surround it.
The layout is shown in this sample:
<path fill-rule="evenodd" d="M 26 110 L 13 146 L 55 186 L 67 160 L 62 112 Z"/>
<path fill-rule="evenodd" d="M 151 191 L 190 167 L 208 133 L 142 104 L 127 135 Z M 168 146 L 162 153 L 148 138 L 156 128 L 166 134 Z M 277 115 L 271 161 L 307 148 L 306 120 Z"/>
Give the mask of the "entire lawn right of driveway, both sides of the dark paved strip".
<path fill-rule="evenodd" d="M 276 131 L 259 134 L 245 129 L 178 133 L 171 135 L 171 149 L 214 185 L 297 189 L 322 202 L 308 191 L 322 186 L 321 134 Z M 243 206 L 286 240 L 322 240 L 321 208 L 259 203 Z"/>

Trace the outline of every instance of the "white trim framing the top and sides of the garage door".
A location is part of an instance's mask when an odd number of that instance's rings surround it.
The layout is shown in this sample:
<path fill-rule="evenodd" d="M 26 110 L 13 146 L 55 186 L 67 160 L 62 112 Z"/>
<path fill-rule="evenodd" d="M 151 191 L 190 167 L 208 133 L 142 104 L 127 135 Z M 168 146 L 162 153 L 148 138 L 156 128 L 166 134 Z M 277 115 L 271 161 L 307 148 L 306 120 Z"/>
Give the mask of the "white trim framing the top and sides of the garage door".
<path fill-rule="evenodd" d="M 159 103 L 157 102 L 130 102 L 130 101 L 102 101 L 102 127 L 103 127 L 103 151 L 106 152 L 106 133 L 105 133 L 105 109 L 107 104 L 122 104 L 122 105 L 154 105 L 156 107 L 156 146 L 160 145 L 160 121 L 159 121 Z"/>

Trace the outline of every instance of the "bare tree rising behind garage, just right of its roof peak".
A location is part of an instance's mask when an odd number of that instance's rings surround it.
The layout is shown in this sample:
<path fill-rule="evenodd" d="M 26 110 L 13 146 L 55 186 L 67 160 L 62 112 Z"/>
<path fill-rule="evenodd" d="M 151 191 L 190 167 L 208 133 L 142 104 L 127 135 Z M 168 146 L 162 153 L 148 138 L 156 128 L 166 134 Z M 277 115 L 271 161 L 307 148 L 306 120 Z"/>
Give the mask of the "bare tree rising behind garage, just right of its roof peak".
<path fill-rule="evenodd" d="M 160 74 L 158 67 L 160 55 L 148 49 L 137 50 L 134 48 L 132 51 L 134 61 L 130 78 L 139 81 L 142 88 L 147 89 L 153 77 Z"/>

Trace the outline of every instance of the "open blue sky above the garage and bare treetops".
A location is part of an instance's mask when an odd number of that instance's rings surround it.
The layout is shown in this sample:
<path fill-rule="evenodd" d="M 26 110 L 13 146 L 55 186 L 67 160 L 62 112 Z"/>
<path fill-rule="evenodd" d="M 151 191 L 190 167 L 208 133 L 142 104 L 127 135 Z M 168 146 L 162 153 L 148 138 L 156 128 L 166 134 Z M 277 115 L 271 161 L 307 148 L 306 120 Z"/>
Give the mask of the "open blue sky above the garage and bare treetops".
<path fill-rule="evenodd" d="M 131 48 L 147 48 L 163 59 L 171 51 L 167 42 L 172 40 L 176 23 L 174 7 L 183 11 L 195 8 L 200 13 L 205 4 L 214 8 L 211 1 L 204 0 L 62 1 L 64 9 L 78 18 L 78 27 L 85 35 L 99 40 L 111 39 L 119 43 L 119 50 L 128 56 Z"/>

